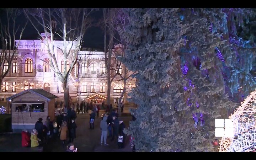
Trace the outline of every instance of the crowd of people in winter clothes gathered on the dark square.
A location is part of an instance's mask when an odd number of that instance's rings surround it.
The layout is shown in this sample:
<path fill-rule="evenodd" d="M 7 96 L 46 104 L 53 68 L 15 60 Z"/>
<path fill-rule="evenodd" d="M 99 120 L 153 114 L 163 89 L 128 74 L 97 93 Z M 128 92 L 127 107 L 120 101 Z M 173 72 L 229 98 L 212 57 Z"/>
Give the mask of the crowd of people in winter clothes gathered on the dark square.
<path fill-rule="evenodd" d="M 112 105 L 107 105 L 105 107 L 104 102 L 102 102 L 102 108 L 105 110 L 105 114 L 103 114 L 102 120 L 100 122 L 101 129 L 101 144 L 108 145 L 107 138 L 111 138 L 111 141 L 117 141 L 118 148 L 124 148 L 124 141 L 126 135 L 123 132 L 125 125 L 123 121 L 118 119 L 117 109 L 113 109 Z M 58 105 L 60 106 L 60 110 L 58 110 Z M 37 147 L 42 146 L 43 144 L 47 144 L 50 139 L 59 138 L 62 142 L 63 146 L 66 146 L 67 152 L 77 152 L 77 148 L 74 148 L 74 139 L 76 138 L 76 114 L 88 113 L 91 110 L 89 129 L 94 129 L 95 118 L 99 117 L 99 111 L 101 110 L 99 105 L 93 105 L 92 103 L 88 103 L 82 101 L 75 104 L 70 105 L 70 108 L 63 106 L 63 102 L 60 101 L 58 104 L 55 101 L 55 119 L 50 121 L 50 117 L 46 117 L 46 121 L 43 123 L 43 118 L 39 118 L 36 122 L 34 129 L 31 133 L 28 130 L 24 129 L 22 131 L 22 146 L 23 147 Z M 123 107 L 122 105 L 122 112 Z M 117 106 L 118 107 L 118 106 Z M 75 112 L 76 108 L 76 112 Z M 67 139 L 69 137 L 69 141 L 67 143 Z"/>

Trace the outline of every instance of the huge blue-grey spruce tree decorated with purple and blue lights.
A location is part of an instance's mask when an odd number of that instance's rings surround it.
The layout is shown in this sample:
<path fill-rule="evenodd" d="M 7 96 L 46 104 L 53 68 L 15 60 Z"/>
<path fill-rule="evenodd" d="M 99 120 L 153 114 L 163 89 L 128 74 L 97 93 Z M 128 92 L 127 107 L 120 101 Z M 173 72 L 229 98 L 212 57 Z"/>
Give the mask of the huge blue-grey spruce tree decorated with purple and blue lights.
<path fill-rule="evenodd" d="M 227 118 L 242 86 L 255 89 L 254 43 L 238 29 L 251 9 L 124 9 L 123 63 L 136 71 L 137 118 L 126 133 L 138 151 L 213 151 L 214 119 Z M 246 21 L 247 20 L 247 21 Z M 250 22 L 250 21 L 249 21 Z M 241 32 L 242 33 L 242 32 Z M 241 36 L 241 35 L 240 35 Z"/>

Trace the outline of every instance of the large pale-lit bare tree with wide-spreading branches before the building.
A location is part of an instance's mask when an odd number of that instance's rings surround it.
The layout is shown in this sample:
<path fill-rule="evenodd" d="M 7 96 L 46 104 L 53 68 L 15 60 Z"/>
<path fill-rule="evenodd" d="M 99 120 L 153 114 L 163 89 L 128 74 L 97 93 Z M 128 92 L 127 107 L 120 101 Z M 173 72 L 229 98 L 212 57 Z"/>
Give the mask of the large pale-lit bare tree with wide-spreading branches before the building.
<path fill-rule="evenodd" d="M 77 61 L 77 55 L 81 48 L 82 37 L 91 25 L 89 15 L 93 9 L 24 9 L 26 17 L 36 29 L 41 40 L 44 40 L 40 32 L 40 27 L 44 33 L 50 34 L 50 39 L 46 39 L 50 65 L 58 80 L 62 82 L 64 90 L 65 106 L 69 107 L 69 75 Z M 37 27 L 39 24 L 39 27 Z M 59 30 L 58 30 L 59 29 Z M 62 46 L 55 46 L 54 36 L 62 40 Z M 40 38 L 39 38 L 40 39 Z M 57 62 L 58 48 L 64 55 L 64 69 L 61 71 Z M 67 61 L 71 60 L 71 64 Z"/>

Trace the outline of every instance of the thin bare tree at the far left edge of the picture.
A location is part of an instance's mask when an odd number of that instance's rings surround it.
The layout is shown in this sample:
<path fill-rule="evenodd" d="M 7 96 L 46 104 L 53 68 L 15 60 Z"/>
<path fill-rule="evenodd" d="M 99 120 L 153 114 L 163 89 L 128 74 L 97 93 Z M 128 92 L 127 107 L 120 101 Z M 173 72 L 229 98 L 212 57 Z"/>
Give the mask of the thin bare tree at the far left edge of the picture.
<path fill-rule="evenodd" d="M 18 46 L 20 45 L 20 40 L 27 25 L 26 21 L 23 23 L 23 28 L 20 29 L 20 25 L 16 23 L 16 20 L 21 16 L 21 11 L 19 9 L 2 9 L 4 15 L 0 18 L 0 38 L 2 50 L 0 53 L 0 84 L 5 76 L 9 73 L 11 68 L 11 62 L 14 59 L 14 54 L 17 53 Z M 15 38 L 19 34 L 18 43 L 15 47 Z"/>

